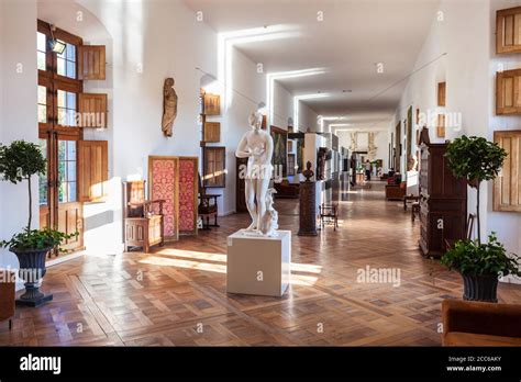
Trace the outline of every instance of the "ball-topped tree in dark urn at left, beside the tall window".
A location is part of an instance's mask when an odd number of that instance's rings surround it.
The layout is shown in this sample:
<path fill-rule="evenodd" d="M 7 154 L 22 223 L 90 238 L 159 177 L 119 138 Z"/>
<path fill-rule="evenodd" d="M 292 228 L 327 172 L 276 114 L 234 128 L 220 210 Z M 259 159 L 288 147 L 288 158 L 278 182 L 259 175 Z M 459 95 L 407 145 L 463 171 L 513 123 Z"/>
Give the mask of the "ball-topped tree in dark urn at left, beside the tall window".
<path fill-rule="evenodd" d="M 16 300 L 18 304 L 38 306 L 53 300 L 52 294 L 40 292 L 40 282 L 45 276 L 45 258 L 49 250 L 76 235 L 66 235 L 54 229 L 31 229 L 32 193 L 31 177 L 45 175 L 46 160 L 35 144 L 14 141 L 9 146 L 0 145 L 0 175 L 2 180 L 14 184 L 27 181 L 29 221 L 26 227 L 9 240 L 0 241 L 0 247 L 9 247 L 20 262 L 20 277 L 24 280 L 25 293 Z"/>

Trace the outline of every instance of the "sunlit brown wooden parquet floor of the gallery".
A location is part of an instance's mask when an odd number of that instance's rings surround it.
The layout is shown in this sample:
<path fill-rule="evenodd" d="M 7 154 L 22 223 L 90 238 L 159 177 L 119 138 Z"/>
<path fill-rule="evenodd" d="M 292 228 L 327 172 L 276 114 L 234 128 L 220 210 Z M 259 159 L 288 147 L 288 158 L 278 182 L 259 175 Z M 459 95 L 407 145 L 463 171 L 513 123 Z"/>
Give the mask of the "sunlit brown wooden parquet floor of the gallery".
<path fill-rule="evenodd" d="M 292 277 L 281 297 L 228 295 L 226 236 L 247 214 L 155 254 L 84 256 L 51 267 L 54 301 L 16 308 L 0 345 L 14 346 L 439 346 L 441 301 L 462 295 L 459 276 L 418 250 L 419 222 L 383 184 L 342 191 L 340 229 L 299 237 L 298 203 L 278 201 L 291 229 Z M 357 282 L 357 271 L 391 268 L 400 283 Z M 520 303 L 521 285 L 501 284 Z"/>

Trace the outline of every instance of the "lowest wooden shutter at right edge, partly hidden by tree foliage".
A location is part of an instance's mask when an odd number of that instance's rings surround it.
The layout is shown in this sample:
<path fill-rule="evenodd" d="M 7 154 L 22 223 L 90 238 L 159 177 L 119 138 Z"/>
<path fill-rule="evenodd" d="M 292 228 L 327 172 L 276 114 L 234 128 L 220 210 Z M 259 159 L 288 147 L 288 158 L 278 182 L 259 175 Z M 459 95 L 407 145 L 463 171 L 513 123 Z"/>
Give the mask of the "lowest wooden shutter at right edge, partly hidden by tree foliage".
<path fill-rule="evenodd" d="M 521 212 L 521 131 L 494 132 L 508 156 L 494 180 L 494 211 Z"/>

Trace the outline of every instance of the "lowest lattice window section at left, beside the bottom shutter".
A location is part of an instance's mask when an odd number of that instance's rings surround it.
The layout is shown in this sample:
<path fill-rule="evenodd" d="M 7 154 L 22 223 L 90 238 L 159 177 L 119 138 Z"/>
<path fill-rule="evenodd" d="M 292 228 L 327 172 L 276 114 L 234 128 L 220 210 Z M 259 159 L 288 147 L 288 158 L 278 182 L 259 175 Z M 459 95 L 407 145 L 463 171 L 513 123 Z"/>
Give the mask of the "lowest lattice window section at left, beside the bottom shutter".
<path fill-rule="evenodd" d="M 58 141 L 58 202 L 76 202 L 76 141 Z"/>

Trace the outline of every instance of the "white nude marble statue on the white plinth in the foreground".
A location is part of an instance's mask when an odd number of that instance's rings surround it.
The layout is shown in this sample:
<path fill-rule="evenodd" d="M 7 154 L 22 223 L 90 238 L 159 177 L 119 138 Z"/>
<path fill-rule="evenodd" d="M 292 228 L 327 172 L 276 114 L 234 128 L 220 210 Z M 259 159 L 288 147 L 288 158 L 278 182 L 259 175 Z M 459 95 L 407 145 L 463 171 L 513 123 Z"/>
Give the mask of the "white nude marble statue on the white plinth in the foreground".
<path fill-rule="evenodd" d="M 274 142 L 269 133 L 262 130 L 263 114 L 252 113 L 248 119 L 250 132 L 244 134 L 235 151 L 237 158 L 248 158 L 246 171 L 243 175 L 245 181 L 246 206 L 252 216 L 252 224 L 246 231 L 267 235 L 266 225 L 263 224 L 265 215 L 270 217 L 268 229 L 273 231 L 277 225 L 277 214 L 273 209 L 273 192 L 268 192 L 269 181 L 273 173 L 271 157 L 274 154 Z M 271 199 L 270 210 L 267 211 L 267 198 Z M 256 203 L 255 203 L 256 201 Z M 275 222 L 273 218 L 275 216 Z"/>

